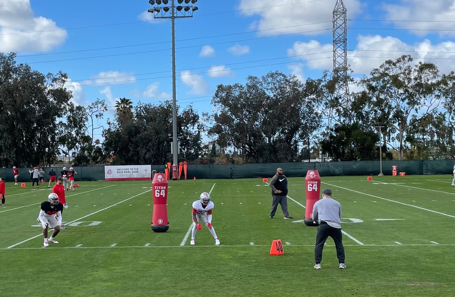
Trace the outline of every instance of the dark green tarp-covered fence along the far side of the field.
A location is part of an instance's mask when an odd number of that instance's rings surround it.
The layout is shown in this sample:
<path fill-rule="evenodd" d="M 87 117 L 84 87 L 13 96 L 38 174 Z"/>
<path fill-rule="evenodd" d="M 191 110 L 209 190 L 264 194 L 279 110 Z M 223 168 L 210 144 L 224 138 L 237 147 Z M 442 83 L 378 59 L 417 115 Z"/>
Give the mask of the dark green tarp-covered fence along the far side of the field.
<path fill-rule="evenodd" d="M 397 172 L 404 172 L 406 175 L 413 174 L 452 174 L 454 160 L 402 160 L 383 161 L 382 172 L 385 175 L 392 175 L 392 166 L 397 166 Z M 379 174 L 379 161 L 361 162 L 301 162 L 301 163 L 266 163 L 266 164 L 212 164 L 212 165 L 188 165 L 187 179 L 196 177 L 209 179 L 229 178 L 271 178 L 278 167 L 288 177 L 306 176 L 308 170 L 318 170 L 320 176 L 344 176 L 344 175 L 377 175 Z M 69 170 L 70 166 L 66 166 Z M 152 170 L 164 173 L 165 165 L 152 165 Z M 178 166 L 177 166 L 178 168 Z M 18 168 L 18 182 L 30 182 L 29 168 Z M 81 180 L 104 180 L 104 167 L 74 167 L 78 174 L 75 181 Z M 49 180 L 49 167 L 45 167 L 44 179 Z M 57 176 L 63 170 L 63 166 L 54 167 Z M 13 182 L 12 168 L 0 168 L 0 176 L 6 182 Z M 181 179 L 185 178 L 182 172 Z"/>

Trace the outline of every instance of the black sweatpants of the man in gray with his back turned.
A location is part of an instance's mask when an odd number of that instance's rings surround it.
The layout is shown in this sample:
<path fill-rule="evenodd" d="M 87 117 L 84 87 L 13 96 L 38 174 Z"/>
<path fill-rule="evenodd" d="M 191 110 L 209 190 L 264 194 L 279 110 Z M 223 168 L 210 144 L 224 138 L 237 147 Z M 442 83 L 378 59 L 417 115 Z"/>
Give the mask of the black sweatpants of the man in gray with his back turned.
<path fill-rule="evenodd" d="M 314 262 L 319 264 L 322 261 L 322 249 L 328 237 L 334 240 L 337 249 L 337 257 L 339 263 L 344 263 L 344 247 L 341 229 L 329 226 L 325 222 L 321 222 L 316 234 L 316 245 L 314 246 Z"/>

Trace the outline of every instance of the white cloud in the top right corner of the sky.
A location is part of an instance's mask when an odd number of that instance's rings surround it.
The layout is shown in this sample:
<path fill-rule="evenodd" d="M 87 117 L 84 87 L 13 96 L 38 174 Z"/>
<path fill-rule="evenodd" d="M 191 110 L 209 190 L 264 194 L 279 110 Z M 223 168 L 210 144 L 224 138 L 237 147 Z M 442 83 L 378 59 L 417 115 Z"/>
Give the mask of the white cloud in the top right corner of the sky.
<path fill-rule="evenodd" d="M 386 20 L 399 28 L 409 29 L 415 35 L 425 36 L 428 30 L 440 30 L 441 36 L 455 35 L 453 23 L 440 22 L 455 19 L 455 1 L 453 0 L 400 0 L 399 4 L 384 4 Z M 394 20 L 406 20 L 394 22 Z M 429 20 L 430 22 L 415 21 Z"/>

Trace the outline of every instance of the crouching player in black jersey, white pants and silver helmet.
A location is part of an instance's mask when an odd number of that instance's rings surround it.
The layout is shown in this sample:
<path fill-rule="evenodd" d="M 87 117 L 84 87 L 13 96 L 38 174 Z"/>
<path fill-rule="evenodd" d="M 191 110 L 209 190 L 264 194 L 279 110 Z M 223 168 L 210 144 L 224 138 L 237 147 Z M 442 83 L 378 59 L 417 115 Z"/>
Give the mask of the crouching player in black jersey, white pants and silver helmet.
<path fill-rule="evenodd" d="M 50 193 L 47 197 L 47 201 L 41 203 L 40 216 L 36 219 L 41 222 L 43 226 L 43 235 L 44 235 L 44 246 L 49 246 L 49 242 L 58 243 L 54 238 L 60 232 L 61 225 L 61 212 L 63 210 L 63 204 L 58 201 L 58 195 L 56 193 Z M 54 215 L 57 214 L 57 219 Z M 54 228 L 54 233 L 52 233 L 51 238 L 47 238 L 47 228 Z"/>

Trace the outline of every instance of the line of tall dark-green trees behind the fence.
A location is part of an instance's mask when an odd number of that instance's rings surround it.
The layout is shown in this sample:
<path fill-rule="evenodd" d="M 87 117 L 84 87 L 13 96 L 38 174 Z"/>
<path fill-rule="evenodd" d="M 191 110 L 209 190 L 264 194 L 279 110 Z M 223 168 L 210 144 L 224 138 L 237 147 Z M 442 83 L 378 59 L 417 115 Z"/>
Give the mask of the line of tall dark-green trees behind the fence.
<path fill-rule="evenodd" d="M 42 74 L 0 53 L 0 166 L 53 164 L 73 151 L 78 166 L 164 164 L 172 160 L 172 102 L 116 102 L 100 125 L 104 100 L 71 102 L 68 76 Z M 455 74 L 441 74 L 410 55 L 384 61 L 359 81 L 335 77 L 300 81 L 269 72 L 245 84 L 219 84 L 214 112 L 177 105 L 179 160 L 188 163 L 302 162 L 315 154 L 333 161 L 454 158 Z M 356 84 L 349 98 L 339 82 Z M 381 135 L 374 126 L 384 126 Z M 101 131 L 103 140 L 96 139 Z M 202 135 L 212 139 L 203 145 Z"/>

